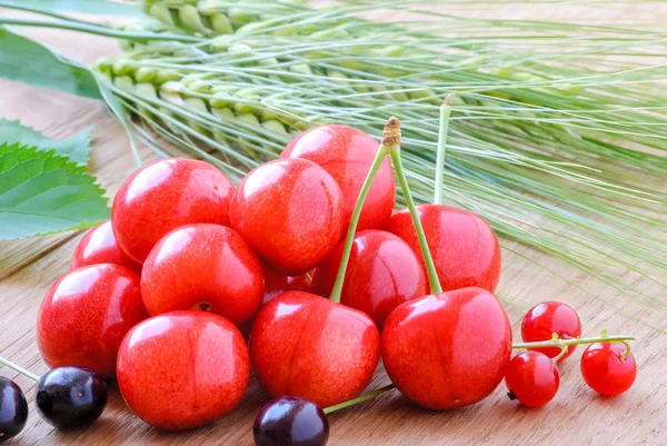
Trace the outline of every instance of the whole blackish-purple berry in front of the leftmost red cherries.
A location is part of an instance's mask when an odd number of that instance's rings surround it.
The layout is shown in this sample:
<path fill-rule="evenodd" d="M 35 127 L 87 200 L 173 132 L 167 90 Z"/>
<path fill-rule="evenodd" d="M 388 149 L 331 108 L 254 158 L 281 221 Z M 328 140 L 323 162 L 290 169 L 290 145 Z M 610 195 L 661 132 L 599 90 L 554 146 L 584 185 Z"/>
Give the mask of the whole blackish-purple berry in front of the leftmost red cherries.
<path fill-rule="evenodd" d="M 107 383 L 86 367 L 59 367 L 37 385 L 37 408 L 42 418 L 59 429 L 91 424 L 107 407 Z"/>

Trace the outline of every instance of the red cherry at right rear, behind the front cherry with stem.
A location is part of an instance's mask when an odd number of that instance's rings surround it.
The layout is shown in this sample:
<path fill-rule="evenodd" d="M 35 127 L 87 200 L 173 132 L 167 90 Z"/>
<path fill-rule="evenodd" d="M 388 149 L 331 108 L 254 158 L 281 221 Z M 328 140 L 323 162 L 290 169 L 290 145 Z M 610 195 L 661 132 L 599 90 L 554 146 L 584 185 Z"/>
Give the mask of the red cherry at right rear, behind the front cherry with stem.
<path fill-rule="evenodd" d="M 466 287 L 496 290 L 500 279 L 500 245 L 481 217 L 439 205 L 419 205 L 417 214 L 442 290 Z M 391 216 L 386 229 L 406 240 L 421 259 L 415 225 L 407 209 Z"/>

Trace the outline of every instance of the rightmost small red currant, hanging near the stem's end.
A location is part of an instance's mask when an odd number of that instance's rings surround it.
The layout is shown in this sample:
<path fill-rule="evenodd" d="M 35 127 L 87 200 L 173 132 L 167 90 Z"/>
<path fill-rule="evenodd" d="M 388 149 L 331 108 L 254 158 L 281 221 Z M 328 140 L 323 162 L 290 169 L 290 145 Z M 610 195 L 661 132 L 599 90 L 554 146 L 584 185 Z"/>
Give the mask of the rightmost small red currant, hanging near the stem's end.
<path fill-rule="evenodd" d="M 620 395 L 633 386 L 637 363 L 623 344 L 591 344 L 581 355 L 581 376 L 588 386 L 601 395 Z"/>

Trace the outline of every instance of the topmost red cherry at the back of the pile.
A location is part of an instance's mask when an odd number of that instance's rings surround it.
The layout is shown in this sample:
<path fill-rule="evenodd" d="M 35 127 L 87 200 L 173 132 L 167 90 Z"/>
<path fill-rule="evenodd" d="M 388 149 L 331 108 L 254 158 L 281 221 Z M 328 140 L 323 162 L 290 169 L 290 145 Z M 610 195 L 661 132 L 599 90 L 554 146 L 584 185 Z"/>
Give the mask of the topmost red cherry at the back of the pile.
<path fill-rule="evenodd" d="M 348 126 L 322 126 L 291 140 L 280 158 L 309 159 L 327 170 L 344 197 L 344 226 L 347 227 L 379 143 L 361 130 Z M 396 185 L 389 159 L 385 159 L 364 201 L 357 230 L 382 229 L 396 205 Z"/>

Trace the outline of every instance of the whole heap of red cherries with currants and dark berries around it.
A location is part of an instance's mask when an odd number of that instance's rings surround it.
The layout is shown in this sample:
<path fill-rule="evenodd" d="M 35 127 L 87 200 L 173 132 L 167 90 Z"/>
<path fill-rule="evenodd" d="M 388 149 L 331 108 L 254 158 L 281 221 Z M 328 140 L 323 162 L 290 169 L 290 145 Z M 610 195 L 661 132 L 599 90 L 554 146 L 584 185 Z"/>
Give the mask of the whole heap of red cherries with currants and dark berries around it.
<path fill-rule="evenodd" d="M 394 386 L 448 409 L 505 378 L 511 398 L 540 406 L 558 388 L 556 360 L 596 339 L 581 359 L 586 381 L 605 395 L 629 388 L 629 337 L 579 339 L 564 304 L 531 309 L 522 337 L 539 343 L 515 348 L 547 348 L 510 360 L 510 324 L 492 295 L 496 235 L 464 210 L 415 208 L 395 133 L 378 149 L 354 128 L 309 130 L 236 188 L 202 161 L 136 171 L 39 310 L 39 349 L 52 368 L 37 394 L 44 418 L 92 423 L 107 402 L 103 379 L 117 378 L 146 423 L 189 429 L 237 406 L 252 370 L 277 398 L 256 420 L 256 443 L 322 445 L 325 414 Z M 394 215 L 387 155 L 410 207 Z M 380 355 L 394 384 L 359 397 Z M 1 440 L 21 430 L 28 406 L 16 384 L 0 387 Z"/>

